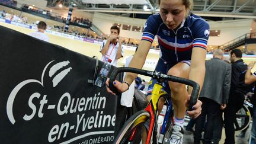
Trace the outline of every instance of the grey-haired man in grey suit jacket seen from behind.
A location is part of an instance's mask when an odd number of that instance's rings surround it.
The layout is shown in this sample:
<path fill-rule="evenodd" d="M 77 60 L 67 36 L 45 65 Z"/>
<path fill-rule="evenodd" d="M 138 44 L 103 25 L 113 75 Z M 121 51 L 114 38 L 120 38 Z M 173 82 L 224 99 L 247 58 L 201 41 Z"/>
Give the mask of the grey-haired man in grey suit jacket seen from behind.
<path fill-rule="evenodd" d="M 222 60 L 223 52 L 218 49 L 213 53 L 213 59 L 206 61 L 206 75 L 204 84 L 199 95 L 203 102 L 201 115 L 196 119 L 194 143 L 200 143 L 201 132 L 204 126 L 203 143 L 211 143 L 213 136 L 213 123 L 228 103 L 229 89 L 231 84 L 231 65 Z"/>

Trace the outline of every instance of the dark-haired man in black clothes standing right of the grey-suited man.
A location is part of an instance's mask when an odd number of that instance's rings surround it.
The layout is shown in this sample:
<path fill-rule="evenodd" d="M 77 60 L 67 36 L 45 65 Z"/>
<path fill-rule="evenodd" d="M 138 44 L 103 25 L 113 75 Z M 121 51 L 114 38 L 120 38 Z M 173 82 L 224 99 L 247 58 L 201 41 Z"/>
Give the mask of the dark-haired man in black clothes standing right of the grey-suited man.
<path fill-rule="evenodd" d="M 233 121 L 235 120 L 236 112 L 242 108 L 247 93 L 245 87 L 245 72 L 247 71 L 247 64 L 242 60 L 242 51 L 234 49 L 230 53 L 231 60 L 231 89 L 229 92 L 229 100 L 226 109 L 224 110 L 224 124 L 225 124 L 225 144 L 235 143 L 235 128 Z"/>

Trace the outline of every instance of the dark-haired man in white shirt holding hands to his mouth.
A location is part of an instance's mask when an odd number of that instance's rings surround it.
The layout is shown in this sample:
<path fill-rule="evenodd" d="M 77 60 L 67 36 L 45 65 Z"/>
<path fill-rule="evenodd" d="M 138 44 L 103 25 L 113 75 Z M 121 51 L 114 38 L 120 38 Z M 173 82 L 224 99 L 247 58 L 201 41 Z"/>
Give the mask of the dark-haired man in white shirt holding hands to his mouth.
<path fill-rule="evenodd" d="M 123 57 L 123 46 L 119 39 L 120 28 L 113 25 L 110 28 L 110 37 L 101 44 L 101 61 L 111 59 L 111 65 L 117 66 L 117 60 Z M 107 58 L 107 59 L 106 59 Z"/>

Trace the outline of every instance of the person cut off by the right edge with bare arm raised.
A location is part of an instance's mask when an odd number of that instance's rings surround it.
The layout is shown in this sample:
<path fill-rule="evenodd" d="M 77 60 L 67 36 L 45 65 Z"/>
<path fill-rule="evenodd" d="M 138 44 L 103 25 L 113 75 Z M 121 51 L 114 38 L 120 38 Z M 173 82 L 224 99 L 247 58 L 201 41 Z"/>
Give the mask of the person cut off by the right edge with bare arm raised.
<path fill-rule="evenodd" d="M 245 73 L 245 84 L 251 85 L 254 82 L 256 82 L 256 71 L 254 73 L 251 73 L 251 69 L 254 67 L 255 61 L 249 63 L 247 72 Z M 254 95 L 252 95 L 251 103 L 254 105 L 252 108 L 252 130 L 251 130 L 251 143 L 249 144 L 256 144 L 256 88 L 254 87 Z"/>

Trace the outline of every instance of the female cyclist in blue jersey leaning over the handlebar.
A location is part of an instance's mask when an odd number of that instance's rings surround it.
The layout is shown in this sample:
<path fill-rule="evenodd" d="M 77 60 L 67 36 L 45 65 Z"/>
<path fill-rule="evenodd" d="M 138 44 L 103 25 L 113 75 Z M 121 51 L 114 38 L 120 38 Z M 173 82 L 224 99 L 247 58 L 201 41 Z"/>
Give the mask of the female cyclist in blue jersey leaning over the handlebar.
<path fill-rule="evenodd" d="M 199 83 L 201 88 L 210 30 L 209 24 L 203 18 L 189 11 L 191 5 L 190 0 L 159 0 L 160 12 L 151 15 L 146 21 L 142 40 L 129 67 L 142 68 L 151 44 L 157 36 L 162 55 L 155 70 L 191 79 Z M 127 73 L 123 83 L 114 81 L 113 84 L 123 92 L 129 88 L 135 78 L 135 73 Z M 108 81 L 106 84 L 108 85 Z M 148 95 L 151 95 L 153 84 L 155 81 L 149 85 Z M 171 89 L 171 99 L 174 104 L 175 121 L 172 127 L 171 143 L 182 143 L 185 101 L 190 99 L 188 94 L 191 91 L 187 92 L 184 84 L 176 82 L 167 82 L 163 88 L 167 92 Z M 109 88 L 107 91 L 113 94 Z M 193 111 L 187 111 L 187 114 L 195 118 L 201 113 L 201 101 L 197 100 L 193 109 Z"/>

